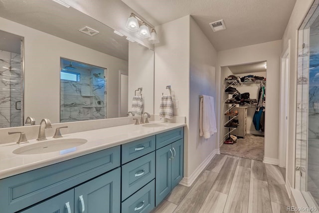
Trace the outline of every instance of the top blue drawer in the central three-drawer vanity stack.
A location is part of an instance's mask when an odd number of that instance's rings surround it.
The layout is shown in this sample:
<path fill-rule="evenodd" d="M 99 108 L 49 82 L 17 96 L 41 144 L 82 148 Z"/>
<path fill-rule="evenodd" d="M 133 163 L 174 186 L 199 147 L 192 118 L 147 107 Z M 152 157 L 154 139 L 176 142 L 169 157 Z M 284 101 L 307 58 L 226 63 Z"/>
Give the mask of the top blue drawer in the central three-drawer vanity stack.
<path fill-rule="evenodd" d="M 122 145 L 122 164 L 155 150 L 155 135 Z"/>

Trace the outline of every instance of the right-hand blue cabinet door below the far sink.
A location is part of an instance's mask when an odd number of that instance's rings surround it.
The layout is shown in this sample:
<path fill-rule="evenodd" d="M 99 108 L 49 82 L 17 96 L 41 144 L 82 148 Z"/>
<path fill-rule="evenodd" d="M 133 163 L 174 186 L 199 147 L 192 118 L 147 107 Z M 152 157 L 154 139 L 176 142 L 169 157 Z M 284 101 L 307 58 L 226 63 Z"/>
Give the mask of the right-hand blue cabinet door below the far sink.
<path fill-rule="evenodd" d="M 173 159 L 171 160 L 171 189 L 183 178 L 183 139 L 171 144 Z"/>

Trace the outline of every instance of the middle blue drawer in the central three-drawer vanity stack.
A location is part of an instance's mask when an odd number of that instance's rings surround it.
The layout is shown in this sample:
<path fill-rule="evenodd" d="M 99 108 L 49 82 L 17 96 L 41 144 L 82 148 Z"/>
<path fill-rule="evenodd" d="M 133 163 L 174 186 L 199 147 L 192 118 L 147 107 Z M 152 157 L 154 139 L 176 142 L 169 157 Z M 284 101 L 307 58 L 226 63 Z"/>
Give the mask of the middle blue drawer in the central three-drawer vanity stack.
<path fill-rule="evenodd" d="M 122 166 L 122 201 L 155 178 L 155 152 Z"/>

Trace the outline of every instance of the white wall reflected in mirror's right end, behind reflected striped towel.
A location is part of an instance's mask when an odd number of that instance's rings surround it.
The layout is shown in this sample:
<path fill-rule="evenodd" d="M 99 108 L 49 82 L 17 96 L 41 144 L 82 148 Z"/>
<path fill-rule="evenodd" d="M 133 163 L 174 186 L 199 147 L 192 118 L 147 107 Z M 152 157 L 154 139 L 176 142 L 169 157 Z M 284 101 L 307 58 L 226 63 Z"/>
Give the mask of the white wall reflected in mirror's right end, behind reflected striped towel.
<path fill-rule="evenodd" d="M 143 112 L 154 114 L 154 51 L 137 42 L 129 42 L 129 111 L 139 87 L 143 88 Z M 140 95 L 140 92 L 136 94 Z"/>

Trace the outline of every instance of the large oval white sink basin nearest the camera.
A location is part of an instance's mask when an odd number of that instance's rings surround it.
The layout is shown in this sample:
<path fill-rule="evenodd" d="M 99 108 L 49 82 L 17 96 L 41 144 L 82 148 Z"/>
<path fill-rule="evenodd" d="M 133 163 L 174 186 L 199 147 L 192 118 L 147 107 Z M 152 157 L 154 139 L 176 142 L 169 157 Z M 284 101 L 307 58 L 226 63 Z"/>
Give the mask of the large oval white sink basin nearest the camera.
<path fill-rule="evenodd" d="M 56 139 L 38 142 L 30 145 L 25 145 L 23 147 L 13 150 L 13 154 L 17 155 L 32 155 L 32 154 L 42 154 L 49 152 L 56 152 L 60 150 L 66 150 L 73 147 L 80 146 L 88 142 L 85 139 L 79 138 L 67 138 L 67 139 Z"/>

